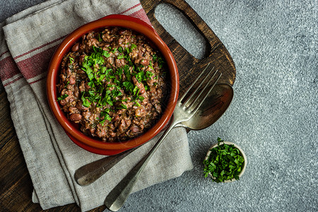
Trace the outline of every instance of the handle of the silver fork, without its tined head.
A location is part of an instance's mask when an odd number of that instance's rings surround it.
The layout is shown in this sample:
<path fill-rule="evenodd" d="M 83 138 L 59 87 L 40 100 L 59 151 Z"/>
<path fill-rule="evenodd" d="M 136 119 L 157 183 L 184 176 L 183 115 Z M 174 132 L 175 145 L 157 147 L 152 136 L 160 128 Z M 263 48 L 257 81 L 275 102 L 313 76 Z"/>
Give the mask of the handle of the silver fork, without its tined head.
<path fill-rule="evenodd" d="M 124 202 L 128 198 L 129 194 L 131 193 L 134 185 L 136 184 L 139 176 L 143 172 L 144 168 L 146 167 L 147 163 L 153 156 L 153 153 L 158 149 L 160 144 L 162 143 L 163 139 L 169 134 L 171 129 L 175 127 L 177 122 L 172 116 L 172 121 L 170 122 L 170 126 L 165 131 L 165 133 L 160 137 L 160 139 L 155 143 L 155 146 L 151 149 L 151 151 L 143 157 L 142 160 L 135 165 L 130 172 L 120 181 L 114 189 L 106 196 L 104 201 L 105 206 L 110 209 L 110 211 L 118 211 L 124 205 Z"/>

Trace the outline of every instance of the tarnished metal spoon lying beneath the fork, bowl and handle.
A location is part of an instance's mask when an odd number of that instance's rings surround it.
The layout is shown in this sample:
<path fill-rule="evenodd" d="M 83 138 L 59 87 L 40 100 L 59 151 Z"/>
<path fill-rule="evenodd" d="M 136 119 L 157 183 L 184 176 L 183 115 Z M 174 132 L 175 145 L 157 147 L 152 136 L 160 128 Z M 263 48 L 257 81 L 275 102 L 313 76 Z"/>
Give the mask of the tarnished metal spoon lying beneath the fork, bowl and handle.
<path fill-rule="evenodd" d="M 176 127 L 183 126 L 189 130 L 200 130 L 211 126 L 222 116 L 225 110 L 228 109 L 232 98 L 233 89 L 231 86 L 227 84 L 217 84 L 192 119 L 188 122 L 177 124 Z M 123 153 L 108 156 L 83 165 L 76 170 L 74 179 L 81 186 L 89 185 L 119 163 L 122 158 L 135 150 L 136 148 L 132 148 L 129 151 L 124 151 Z"/>

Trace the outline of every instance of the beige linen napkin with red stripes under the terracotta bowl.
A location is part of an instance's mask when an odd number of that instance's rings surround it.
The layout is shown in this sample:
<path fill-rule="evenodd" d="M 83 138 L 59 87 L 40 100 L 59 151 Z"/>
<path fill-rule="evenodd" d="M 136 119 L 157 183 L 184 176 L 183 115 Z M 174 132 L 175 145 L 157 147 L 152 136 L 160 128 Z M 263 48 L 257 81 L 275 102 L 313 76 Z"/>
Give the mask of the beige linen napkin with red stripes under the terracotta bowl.
<path fill-rule="evenodd" d="M 11 117 L 33 181 L 33 201 L 43 209 L 76 202 L 82 211 L 103 204 L 108 192 L 146 155 L 155 138 L 128 155 L 95 183 L 81 187 L 78 167 L 105 157 L 76 146 L 54 119 L 45 90 L 47 66 L 59 43 L 84 23 L 120 13 L 150 23 L 139 1 L 46 1 L 4 23 L 0 30 L 0 77 Z M 133 192 L 192 169 L 186 131 L 170 132 Z"/>

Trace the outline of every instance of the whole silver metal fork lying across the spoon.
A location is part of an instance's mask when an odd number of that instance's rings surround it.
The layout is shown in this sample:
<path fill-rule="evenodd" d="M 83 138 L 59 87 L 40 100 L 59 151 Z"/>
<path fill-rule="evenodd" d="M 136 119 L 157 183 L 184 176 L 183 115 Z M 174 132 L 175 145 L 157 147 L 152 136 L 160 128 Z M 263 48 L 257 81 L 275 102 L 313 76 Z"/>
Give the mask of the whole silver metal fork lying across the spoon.
<path fill-rule="evenodd" d="M 199 84 L 199 86 L 196 87 L 194 92 L 192 92 L 189 95 L 189 98 L 187 98 L 187 100 L 183 102 L 184 98 L 188 95 L 189 91 L 192 89 L 194 84 L 199 80 L 199 78 L 201 78 L 202 74 L 206 71 L 206 69 L 208 69 L 208 66 L 209 64 L 206 66 L 204 71 L 200 73 L 200 75 L 196 78 L 192 85 L 187 89 L 184 95 L 182 95 L 182 97 L 179 98 L 177 105 L 175 107 L 175 111 L 172 114 L 170 126 L 167 128 L 163 136 L 161 136 L 157 143 L 155 143 L 155 146 L 153 146 L 151 151 L 126 175 L 126 177 L 124 177 L 124 179 L 122 179 L 122 181 L 119 182 L 119 184 L 117 184 L 116 187 L 114 187 L 114 189 L 112 189 L 110 194 L 107 195 L 104 204 L 108 209 L 110 209 L 110 211 L 117 211 L 119 210 L 119 208 L 123 206 L 124 202 L 131 193 L 131 190 L 136 184 L 139 175 L 141 175 L 141 172 L 143 172 L 144 167 L 146 167 L 153 153 L 155 153 L 155 151 L 162 143 L 163 139 L 165 139 L 165 136 L 167 136 L 171 129 L 173 129 L 177 124 L 189 121 L 189 119 L 192 118 L 192 116 L 196 113 L 201 104 L 204 102 L 208 94 L 211 93 L 211 90 L 216 85 L 220 76 L 222 75 L 222 73 L 220 73 L 213 85 L 210 88 L 208 88 L 209 83 L 211 83 L 213 78 L 216 76 L 216 73 L 218 72 L 218 70 L 215 71 L 215 73 L 213 73 L 213 76 L 211 76 L 213 68 L 211 69 L 211 71 L 208 72 L 208 74 L 206 74 L 206 77 L 204 77 L 204 80 L 201 81 L 201 83 Z M 208 79 L 204 86 L 204 82 L 209 76 L 211 77 Z M 202 86 L 204 87 L 202 88 Z"/>

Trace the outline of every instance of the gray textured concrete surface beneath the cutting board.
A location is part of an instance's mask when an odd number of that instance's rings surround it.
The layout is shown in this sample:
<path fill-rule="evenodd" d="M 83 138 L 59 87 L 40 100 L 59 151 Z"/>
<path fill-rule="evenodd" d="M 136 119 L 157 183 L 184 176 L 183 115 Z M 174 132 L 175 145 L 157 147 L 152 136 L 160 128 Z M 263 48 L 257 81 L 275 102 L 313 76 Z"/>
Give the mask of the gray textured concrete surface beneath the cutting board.
<path fill-rule="evenodd" d="M 0 20 L 40 2 L 2 1 Z M 132 194 L 121 211 L 318 211 L 317 1 L 187 2 L 232 55 L 235 97 L 216 124 L 189 133 L 194 169 Z M 204 40 L 171 6 L 160 5 L 156 16 L 204 57 Z M 247 155 L 240 181 L 203 176 L 218 136 Z"/>

